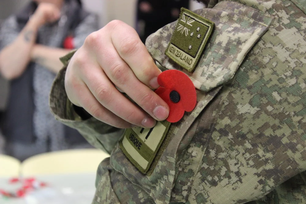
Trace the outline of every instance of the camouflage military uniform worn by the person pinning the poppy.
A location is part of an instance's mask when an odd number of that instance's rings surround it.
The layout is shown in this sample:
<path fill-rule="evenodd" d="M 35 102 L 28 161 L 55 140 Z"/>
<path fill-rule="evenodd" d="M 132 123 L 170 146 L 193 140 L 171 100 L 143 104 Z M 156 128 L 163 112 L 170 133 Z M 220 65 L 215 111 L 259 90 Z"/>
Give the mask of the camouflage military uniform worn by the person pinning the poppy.
<path fill-rule="evenodd" d="M 194 82 L 197 105 L 172 124 L 147 174 L 120 149 L 124 130 L 73 111 L 63 69 L 51 111 L 111 153 L 93 203 L 306 203 L 305 12 L 303 0 L 210 1 L 195 11 L 215 29 L 194 73 L 164 55 L 176 22 L 149 36 L 153 58 Z"/>

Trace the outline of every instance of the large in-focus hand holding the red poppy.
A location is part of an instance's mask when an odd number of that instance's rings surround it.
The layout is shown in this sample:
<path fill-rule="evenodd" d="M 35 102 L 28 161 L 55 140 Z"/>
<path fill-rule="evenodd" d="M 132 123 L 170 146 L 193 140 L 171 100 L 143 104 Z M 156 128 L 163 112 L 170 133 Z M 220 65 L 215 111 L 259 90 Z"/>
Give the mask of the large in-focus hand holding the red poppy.
<path fill-rule="evenodd" d="M 70 101 L 114 127 L 153 127 L 168 117 L 168 105 L 152 91 L 161 71 L 137 32 L 111 21 L 91 33 L 66 70 Z M 125 97 L 126 93 L 136 104 Z"/>

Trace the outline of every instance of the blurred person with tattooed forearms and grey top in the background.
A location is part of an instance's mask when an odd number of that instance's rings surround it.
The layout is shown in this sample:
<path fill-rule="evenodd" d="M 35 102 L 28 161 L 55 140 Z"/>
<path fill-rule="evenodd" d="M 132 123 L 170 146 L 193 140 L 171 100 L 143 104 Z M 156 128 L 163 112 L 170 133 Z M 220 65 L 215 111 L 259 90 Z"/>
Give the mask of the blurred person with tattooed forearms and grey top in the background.
<path fill-rule="evenodd" d="M 62 67 L 59 57 L 81 47 L 97 26 L 97 17 L 83 10 L 80 0 L 33 0 L 4 21 L 0 72 L 10 80 L 2 117 L 7 154 L 24 160 L 47 151 L 90 147 L 77 131 L 54 119 L 48 93 Z"/>

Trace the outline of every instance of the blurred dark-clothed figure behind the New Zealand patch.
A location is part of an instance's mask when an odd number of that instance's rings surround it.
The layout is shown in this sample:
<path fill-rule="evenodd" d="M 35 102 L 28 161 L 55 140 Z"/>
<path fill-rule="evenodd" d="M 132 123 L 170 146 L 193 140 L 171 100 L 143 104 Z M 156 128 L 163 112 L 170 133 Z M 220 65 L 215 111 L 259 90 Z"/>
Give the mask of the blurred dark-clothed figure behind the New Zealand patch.
<path fill-rule="evenodd" d="M 137 32 L 145 39 L 159 28 L 176 21 L 181 7 L 189 8 L 189 0 L 138 0 Z"/>

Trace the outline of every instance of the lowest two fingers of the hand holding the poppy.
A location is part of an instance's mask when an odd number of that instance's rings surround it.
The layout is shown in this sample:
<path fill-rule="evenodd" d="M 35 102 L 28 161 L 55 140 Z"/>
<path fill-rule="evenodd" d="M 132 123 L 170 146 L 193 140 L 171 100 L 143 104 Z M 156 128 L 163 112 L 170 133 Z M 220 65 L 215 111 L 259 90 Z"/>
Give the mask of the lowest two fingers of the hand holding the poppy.
<path fill-rule="evenodd" d="M 85 108 L 96 119 L 114 127 L 136 125 L 150 128 L 156 123 L 115 88 L 93 56 L 84 54 L 82 48 L 69 63 L 65 89 L 73 104 Z"/>

